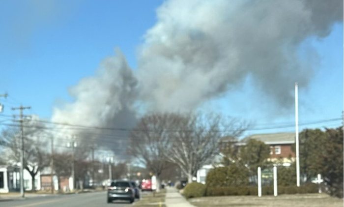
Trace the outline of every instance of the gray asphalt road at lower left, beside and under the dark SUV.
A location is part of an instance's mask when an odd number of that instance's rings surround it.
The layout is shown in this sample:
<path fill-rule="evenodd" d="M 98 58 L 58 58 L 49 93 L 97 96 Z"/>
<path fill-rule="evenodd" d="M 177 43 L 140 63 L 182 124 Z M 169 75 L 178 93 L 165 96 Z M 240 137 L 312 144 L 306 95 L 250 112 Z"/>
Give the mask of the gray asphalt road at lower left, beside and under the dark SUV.
<path fill-rule="evenodd" d="M 0 201 L 0 207 L 129 207 L 128 201 L 114 201 L 108 204 L 106 191 L 70 195 L 56 195 Z"/>

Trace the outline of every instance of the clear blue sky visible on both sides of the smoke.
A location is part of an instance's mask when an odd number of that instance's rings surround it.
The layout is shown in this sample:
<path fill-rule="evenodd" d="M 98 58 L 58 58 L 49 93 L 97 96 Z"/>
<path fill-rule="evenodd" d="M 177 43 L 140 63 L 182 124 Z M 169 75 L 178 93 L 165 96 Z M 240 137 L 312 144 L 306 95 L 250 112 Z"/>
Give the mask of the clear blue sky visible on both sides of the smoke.
<path fill-rule="evenodd" d="M 146 30 L 156 23 L 155 10 L 163 1 L 42 2 L 0 1 L 0 93 L 9 94 L 0 102 L 7 115 L 12 114 L 10 107 L 24 104 L 32 107 L 27 113 L 50 119 L 54 106 L 73 101 L 68 89 L 94 75 L 99 63 L 113 56 L 117 47 L 135 70 L 138 47 Z M 309 47 L 317 51 L 319 63 L 310 85 L 299 86 L 300 122 L 339 118 L 343 111 L 343 23 L 334 25 L 324 39 L 307 39 L 299 48 L 300 56 Z M 265 100 L 248 78 L 241 89 L 204 103 L 202 109 L 252 120 L 257 127 L 294 121 L 292 109 L 280 115 L 270 113 Z"/>

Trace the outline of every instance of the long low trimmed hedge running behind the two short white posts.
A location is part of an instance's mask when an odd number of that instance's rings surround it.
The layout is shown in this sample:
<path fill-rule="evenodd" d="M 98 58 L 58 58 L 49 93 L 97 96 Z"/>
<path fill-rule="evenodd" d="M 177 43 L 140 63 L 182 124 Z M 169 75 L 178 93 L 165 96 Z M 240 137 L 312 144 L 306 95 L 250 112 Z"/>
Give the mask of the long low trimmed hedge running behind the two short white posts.
<path fill-rule="evenodd" d="M 318 185 L 314 183 L 307 183 L 305 185 L 297 186 L 279 186 L 278 194 L 303 194 L 303 193 L 317 193 Z M 261 189 L 262 195 L 273 195 L 273 186 L 263 186 Z M 207 187 L 205 196 L 244 196 L 244 195 L 258 195 L 257 186 L 242 186 L 242 187 Z"/>

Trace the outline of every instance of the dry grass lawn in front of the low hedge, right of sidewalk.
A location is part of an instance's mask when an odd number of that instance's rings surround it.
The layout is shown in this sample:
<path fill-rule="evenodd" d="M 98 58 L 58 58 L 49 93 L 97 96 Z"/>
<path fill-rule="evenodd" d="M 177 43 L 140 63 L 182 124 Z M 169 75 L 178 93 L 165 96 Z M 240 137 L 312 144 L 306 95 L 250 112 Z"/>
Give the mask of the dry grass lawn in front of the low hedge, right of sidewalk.
<path fill-rule="evenodd" d="M 327 194 L 294 194 L 274 196 L 220 196 L 188 200 L 196 207 L 343 207 L 343 199 Z"/>

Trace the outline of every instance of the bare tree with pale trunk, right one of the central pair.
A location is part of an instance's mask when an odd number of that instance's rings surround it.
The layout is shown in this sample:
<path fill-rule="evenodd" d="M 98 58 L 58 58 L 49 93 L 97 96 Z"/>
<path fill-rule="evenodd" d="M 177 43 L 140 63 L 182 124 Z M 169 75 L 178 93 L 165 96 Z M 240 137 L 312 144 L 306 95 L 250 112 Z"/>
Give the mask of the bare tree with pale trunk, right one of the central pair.
<path fill-rule="evenodd" d="M 237 137 L 248 127 L 243 121 L 214 114 L 177 117 L 178 120 L 173 121 L 175 130 L 169 133 L 165 157 L 180 167 L 188 182 L 192 182 L 201 166 L 220 152 L 221 138 Z"/>

